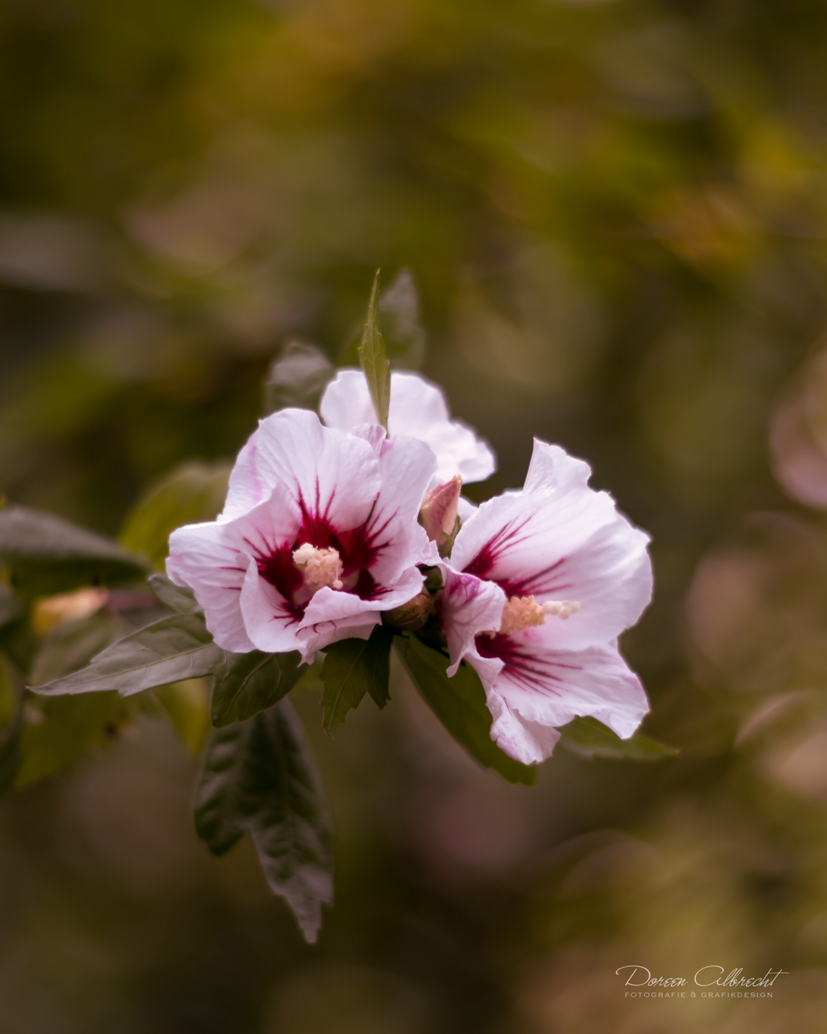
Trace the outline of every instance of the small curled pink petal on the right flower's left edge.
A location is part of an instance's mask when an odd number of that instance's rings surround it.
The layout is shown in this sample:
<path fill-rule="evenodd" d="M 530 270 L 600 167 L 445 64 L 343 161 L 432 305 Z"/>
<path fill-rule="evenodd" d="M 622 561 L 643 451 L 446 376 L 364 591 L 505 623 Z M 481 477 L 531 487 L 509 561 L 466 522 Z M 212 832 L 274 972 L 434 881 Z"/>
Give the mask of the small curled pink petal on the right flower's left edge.
<path fill-rule="evenodd" d="M 456 674 L 460 662 L 472 657 L 473 666 L 483 679 L 483 685 L 488 688 L 499 674 L 502 662 L 481 657 L 477 650 L 476 638 L 499 628 L 506 594 L 496 582 L 462 574 L 443 561 L 438 567 L 445 586 L 438 596 L 439 616 L 451 658 L 448 674 Z"/>

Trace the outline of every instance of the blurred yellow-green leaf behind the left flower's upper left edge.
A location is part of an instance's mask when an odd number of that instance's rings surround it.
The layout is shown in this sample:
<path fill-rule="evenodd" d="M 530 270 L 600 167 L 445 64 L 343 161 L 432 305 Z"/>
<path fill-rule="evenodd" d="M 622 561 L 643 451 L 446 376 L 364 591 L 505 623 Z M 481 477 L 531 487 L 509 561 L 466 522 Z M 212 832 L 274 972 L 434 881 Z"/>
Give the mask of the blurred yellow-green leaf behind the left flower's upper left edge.
<path fill-rule="evenodd" d="M 171 533 L 214 520 L 226 497 L 228 463 L 184 463 L 156 482 L 135 504 L 121 529 L 128 549 L 146 553 L 162 571 Z"/>

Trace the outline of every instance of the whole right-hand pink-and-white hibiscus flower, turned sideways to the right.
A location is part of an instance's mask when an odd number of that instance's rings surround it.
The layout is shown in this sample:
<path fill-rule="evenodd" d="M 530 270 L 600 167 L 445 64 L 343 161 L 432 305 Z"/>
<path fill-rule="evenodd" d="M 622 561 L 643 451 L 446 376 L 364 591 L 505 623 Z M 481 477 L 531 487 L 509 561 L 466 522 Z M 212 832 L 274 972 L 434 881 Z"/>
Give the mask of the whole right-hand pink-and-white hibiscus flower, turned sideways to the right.
<path fill-rule="evenodd" d="M 648 537 L 590 473 L 534 439 L 522 491 L 482 504 L 439 565 L 449 674 L 462 660 L 477 670 L 492 739 L 526 764 L 576 716 L 627 737 L 648 709 L 616 643 L 651 597 Z"/>

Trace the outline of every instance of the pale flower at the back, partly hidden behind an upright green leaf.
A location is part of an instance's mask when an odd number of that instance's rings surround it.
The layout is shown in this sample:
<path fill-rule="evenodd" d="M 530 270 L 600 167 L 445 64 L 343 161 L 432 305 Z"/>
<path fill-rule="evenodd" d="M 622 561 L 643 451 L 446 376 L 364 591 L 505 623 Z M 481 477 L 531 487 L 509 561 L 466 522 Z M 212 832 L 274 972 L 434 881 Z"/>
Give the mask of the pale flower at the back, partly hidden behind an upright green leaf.
<path fill-rule="evenodd" d="M 328 427 L 350 431 L 361 424 L 375 424 L 376 412 L 361 370 L 339 370 L 325 389 L 319 404 Z M 436 456 L 433 484 L 459 475 L 463 481 L 485 481 L 496 469 L 490 447 L 460 420 L 452 420 L 446 398 L 436 385 L 418 373 L 391 374 L 388 433 L 419 438 Z"/>

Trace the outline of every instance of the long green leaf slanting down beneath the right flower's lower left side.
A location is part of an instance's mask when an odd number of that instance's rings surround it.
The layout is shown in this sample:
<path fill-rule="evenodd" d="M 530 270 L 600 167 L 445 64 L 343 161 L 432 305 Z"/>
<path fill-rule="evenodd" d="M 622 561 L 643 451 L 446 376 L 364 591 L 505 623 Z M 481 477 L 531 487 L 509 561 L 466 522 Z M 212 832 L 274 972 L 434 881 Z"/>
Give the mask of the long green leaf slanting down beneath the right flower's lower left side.
<path fill-rule="evenodd" d="M 399 645 L 399 644 L 398 644 Z M 533 765 L 523 765 L 501 751 L 491 739 L 491 712 L 486 707 L 480 676 L 461 664 L 452 678 L 446 674 L 448 658 L 411 636 L 399 655 L 414 685 L 451 735 L 486 768 L 494 768 L 509 783 L 532 786 Z"/>

